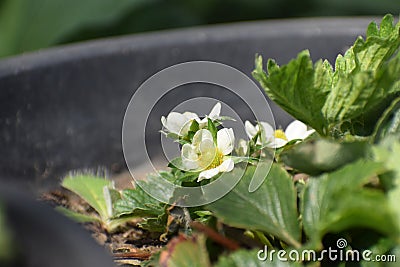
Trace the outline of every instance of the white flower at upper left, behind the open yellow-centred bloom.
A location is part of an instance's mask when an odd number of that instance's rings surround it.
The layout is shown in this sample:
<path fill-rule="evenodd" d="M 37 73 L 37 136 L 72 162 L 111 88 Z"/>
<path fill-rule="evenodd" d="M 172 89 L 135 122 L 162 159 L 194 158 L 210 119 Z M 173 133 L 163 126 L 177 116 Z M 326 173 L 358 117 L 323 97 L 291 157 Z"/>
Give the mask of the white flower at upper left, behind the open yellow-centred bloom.
<path fill-rule="evenodd" d="M 189 132 L 192 121 L 198 118 L 197 114 L 193 112 L 185 112 L 183 114 L 171 112 L 167 118 L 164 116 L 161 117 L 161 123 L 168 132 L 185 136 Z"/>

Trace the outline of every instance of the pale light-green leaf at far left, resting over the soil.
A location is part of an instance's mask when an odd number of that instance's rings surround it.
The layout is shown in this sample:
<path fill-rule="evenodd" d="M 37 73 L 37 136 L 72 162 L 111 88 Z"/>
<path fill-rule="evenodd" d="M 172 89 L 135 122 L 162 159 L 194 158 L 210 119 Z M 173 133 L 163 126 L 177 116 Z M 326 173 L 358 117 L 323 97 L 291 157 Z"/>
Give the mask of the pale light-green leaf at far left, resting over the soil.
<path fill-rule="evenodd" d="M 103 222 L 112 216 L 111 207 L 105 198 L 105 192 L 112 187 L 111 181 L 91 175 L 77 175 L 66 177 L 61 186 L 85 200 L 97 211 Z"/>

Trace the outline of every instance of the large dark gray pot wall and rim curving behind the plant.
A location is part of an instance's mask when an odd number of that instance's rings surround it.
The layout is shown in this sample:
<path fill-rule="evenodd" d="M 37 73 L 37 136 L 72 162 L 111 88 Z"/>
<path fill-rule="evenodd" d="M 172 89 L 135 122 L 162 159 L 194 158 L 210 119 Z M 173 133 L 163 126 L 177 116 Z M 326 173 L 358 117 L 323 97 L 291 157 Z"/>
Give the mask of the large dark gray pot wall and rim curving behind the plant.
<path fill-rule="evenodd" d="M 369 21 L 301 19 L 193 28 L 58 47 L 2 60 L 0 180 L 40 191 L 58 184 L 60 177 L 73 169 L 102 166 L 122 171 L 126 168 L 121 147 L 125 109 L 139 85 L 157 71 L 176 63 L 210 60 L 250 76 L 256 53 L 286 63 L 307 48 L 313 59 L 332 62 L 365 32 Z M 159 117 L 187 98 L 207 95 L 235 105 L 237 100 L 217 91 L 203 86 L 172 94 L 152 114 L 147 127 L 154 134 L 149 143 L 159 142 Z M 240 105 L 237 108 L 240 110 Z M 286 113 L 275 106 L 273 111 L 278 125 L 289 122 Z M 241 115 L 252 117 L 246 109 Z M 153 153 L 157 152 L 155 145 Z M 135 159 L 137 164 L 141 160 Z"/>

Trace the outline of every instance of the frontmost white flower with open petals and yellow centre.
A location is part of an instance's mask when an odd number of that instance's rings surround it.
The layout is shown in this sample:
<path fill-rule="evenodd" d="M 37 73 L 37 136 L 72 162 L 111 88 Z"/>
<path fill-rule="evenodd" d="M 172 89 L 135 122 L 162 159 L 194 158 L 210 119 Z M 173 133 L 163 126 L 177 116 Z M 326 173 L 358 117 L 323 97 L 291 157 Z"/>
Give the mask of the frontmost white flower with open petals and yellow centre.
<path fill-rule="evenodd" d="M 217 143 L 214 143 L 209 130 L 201 129 L 193 136 L 192 144 L 182 146 L 183 167 L 188 170 L 202 171 L 197 181 L 211 179 L 220 172 L 230 172 L 234 162 L 227 157 L 233 150 L 234 134 L 231 128 L 217 132 Z"/>

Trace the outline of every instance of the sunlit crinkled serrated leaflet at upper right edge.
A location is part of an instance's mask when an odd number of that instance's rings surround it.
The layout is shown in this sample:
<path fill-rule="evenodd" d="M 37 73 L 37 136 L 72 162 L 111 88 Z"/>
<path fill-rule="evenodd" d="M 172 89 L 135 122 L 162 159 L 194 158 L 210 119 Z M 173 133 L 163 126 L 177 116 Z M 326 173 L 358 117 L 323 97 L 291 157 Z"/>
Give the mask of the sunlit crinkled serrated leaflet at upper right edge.
<path fill-rule="evenodd" d="M 398 92 L 400 61 L 394 55 L 400 45 L 400 24 L 393 25 L 393 16 L 386 15 L 378 30 L 371 23 L 364 40 L 336 60 L 334 84 L 323 108 L 328 121 L 357 118 L 373 110 Z"/>

